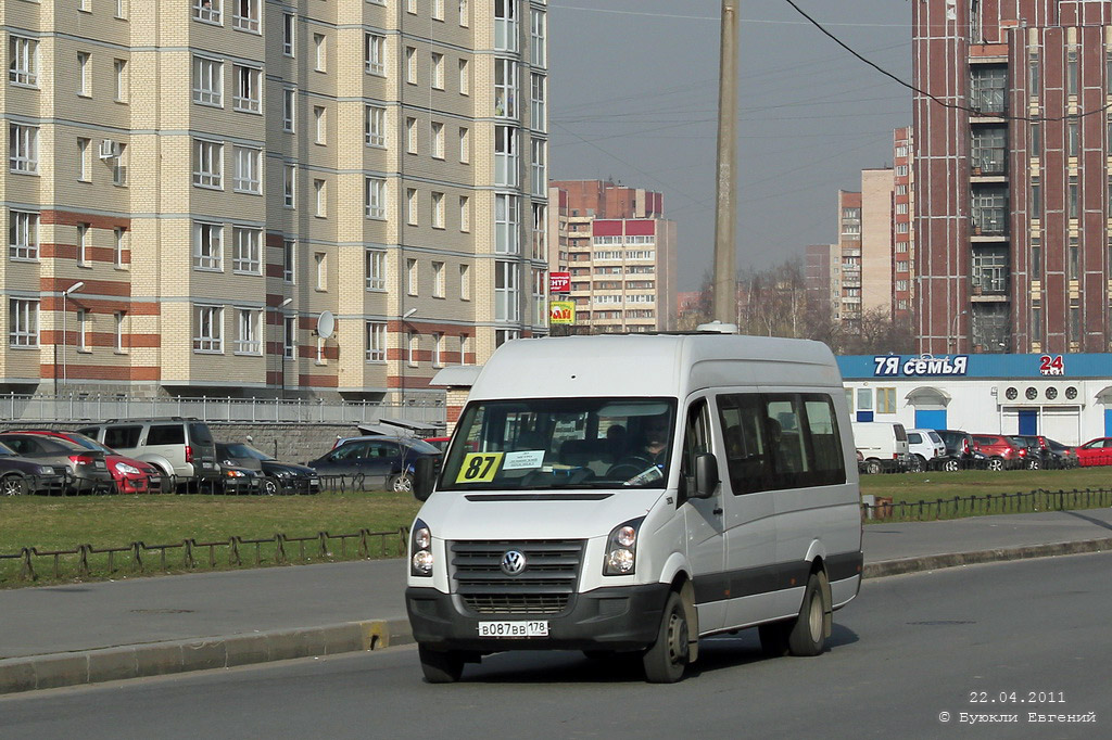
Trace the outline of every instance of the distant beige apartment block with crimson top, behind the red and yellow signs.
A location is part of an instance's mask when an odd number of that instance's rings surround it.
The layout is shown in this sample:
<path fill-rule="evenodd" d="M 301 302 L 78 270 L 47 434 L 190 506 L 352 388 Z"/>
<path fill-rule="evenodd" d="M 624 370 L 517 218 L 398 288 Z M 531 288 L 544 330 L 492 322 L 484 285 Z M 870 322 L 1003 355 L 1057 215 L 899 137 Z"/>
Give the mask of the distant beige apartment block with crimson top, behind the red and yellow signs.
<path fill-rule="evenodd" d="M 658 192 L 600 180 L 549 183 L 558 204 L 549 242 L 554 272 L 569 272 L 575 331 L 675 328 L 676 224 Z"/>

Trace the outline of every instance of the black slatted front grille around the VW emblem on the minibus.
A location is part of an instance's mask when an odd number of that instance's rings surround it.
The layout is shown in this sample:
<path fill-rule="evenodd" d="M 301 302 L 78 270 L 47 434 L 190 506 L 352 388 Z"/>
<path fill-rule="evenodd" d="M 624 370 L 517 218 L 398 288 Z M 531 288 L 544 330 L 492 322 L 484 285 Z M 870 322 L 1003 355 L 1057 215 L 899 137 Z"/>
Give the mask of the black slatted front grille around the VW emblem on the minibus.
<path fill-rule="evenodd" d="M 464 606 L 478 614 L 557 614 L 579 580 L 583 540 L 496 540 L 451 543 L 451 578 Z M 525 556 L 525 570 L 508 576 L 502 558 Z"/>

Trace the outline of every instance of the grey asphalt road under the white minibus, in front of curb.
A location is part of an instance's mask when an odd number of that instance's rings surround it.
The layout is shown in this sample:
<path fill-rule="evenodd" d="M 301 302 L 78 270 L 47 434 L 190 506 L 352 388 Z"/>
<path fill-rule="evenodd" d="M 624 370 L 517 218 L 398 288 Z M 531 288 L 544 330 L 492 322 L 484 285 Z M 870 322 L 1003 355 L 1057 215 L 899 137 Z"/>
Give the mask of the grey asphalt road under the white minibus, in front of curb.
<path fill-rule="evenodd" d="M 1110 569 L 1098 553 L 870 580 L 827 653 L 766 660 L 751 630 L 707 641 L 675 686 L 543 652 L 430 686 L 408 646 L 12 694 L 0 738 L 1088 739 L 1112 728 Z"/>

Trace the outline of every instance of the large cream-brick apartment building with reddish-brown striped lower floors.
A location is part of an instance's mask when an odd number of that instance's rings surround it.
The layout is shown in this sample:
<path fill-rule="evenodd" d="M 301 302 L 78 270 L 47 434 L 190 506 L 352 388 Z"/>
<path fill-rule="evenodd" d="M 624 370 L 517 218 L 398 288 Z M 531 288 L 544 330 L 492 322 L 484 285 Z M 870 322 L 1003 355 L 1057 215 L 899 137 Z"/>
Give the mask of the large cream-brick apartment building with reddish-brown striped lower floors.
<path fill-rule="evenodd" d="M 0 389 L 396 400 L 545 332 L 546 11 L 0 4 Z"/>

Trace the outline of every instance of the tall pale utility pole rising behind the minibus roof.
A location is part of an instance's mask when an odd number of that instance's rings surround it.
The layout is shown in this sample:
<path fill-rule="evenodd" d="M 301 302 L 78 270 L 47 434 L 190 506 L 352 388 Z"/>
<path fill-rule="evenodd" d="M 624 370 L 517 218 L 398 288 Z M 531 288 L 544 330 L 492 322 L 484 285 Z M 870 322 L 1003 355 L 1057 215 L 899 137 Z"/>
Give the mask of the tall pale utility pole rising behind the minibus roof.
<path fill-rule="evenodd" d="M 718 163 L 714 218 L 714 317 L 737 320 L 737 3 L 722 0 L 722 57 L 718 62 Z"/>

